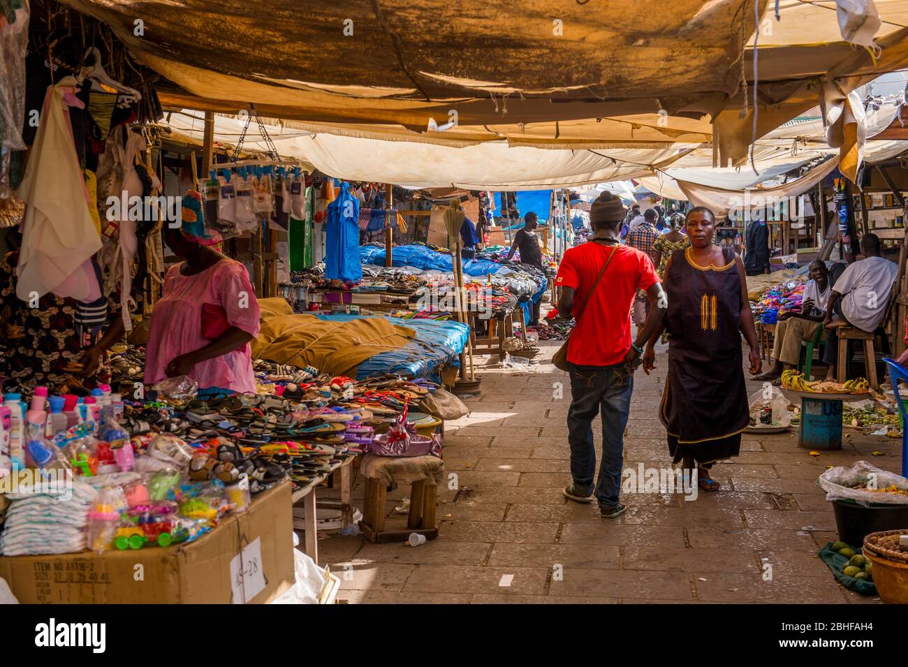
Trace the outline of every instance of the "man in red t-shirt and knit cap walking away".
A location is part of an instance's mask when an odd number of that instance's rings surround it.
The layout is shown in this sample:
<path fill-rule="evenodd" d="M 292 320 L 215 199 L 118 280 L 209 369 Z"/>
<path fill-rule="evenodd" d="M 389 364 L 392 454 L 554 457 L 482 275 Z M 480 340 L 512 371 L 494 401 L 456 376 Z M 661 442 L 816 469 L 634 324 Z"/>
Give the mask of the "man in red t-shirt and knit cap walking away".
<path fill-rule="evenodd" d="M 589 211 L 595 237 L 565 252 L 555 279 L 561 289 L 558 313 L 576 319 L 568 343 L 568 443 L 574 481 L 564 489 L 564 495 L 579 503 L 592 502 L 595 497 L 599 514 L 607 518 L 625 511 L 618 494 L 634 369 L 667 305 L 653 262 L 646 253 L 621 245 L 618 239 L 624 218 L 625 207 L 615 195 L 599 195 Z M 631 342 L 630 308 L 637 289 L 646 292 L 651 308 L 646 323 L 637 331 L 637 340 Z M 600 409 L 602 461 L 594 485 L 592 423 Z"/>

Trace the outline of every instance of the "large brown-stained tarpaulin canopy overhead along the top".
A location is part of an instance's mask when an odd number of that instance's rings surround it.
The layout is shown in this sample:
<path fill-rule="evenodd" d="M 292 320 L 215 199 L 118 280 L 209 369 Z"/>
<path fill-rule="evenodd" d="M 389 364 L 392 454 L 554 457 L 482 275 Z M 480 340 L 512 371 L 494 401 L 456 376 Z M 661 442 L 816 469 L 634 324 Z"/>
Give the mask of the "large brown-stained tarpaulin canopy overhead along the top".
<path fill-rule="evenodd" d="M 765 0 L 65 2 L 112 25 L 176 84 L 162 89 L 171 108 L 236 113 L 254 103 L 321 132 L 449 146 L 676 149 L 715 139 L 717 159 L 741 162 L 754 98 L 762 136 L 908 64 L 908 0 L 876 3 L 875 58 L 844 42 L 831 2 L 785 0 L 780 20 Z M 427 131 L 452 111 L 455 126 Z"/>

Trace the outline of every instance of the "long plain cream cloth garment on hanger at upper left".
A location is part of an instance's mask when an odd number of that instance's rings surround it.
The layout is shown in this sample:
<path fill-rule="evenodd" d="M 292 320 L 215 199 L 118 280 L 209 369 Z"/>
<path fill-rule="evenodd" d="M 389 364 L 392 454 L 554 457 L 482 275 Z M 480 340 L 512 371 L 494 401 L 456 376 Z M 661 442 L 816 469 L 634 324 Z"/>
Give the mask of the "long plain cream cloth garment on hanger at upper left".
<path fill-rule="evenodd" d="M 64 102 L 67 92 L 72 88 L 60 84 L 47 89 L 42 122 L 18 190 L 19 199 L 27 204 L 16 286 L 19 299 L 53 291 L 81 300 L 99 289 L 94 270 L 83 266 L 101 249 L 101 239 L 88 211 L 88 192 Z"/>

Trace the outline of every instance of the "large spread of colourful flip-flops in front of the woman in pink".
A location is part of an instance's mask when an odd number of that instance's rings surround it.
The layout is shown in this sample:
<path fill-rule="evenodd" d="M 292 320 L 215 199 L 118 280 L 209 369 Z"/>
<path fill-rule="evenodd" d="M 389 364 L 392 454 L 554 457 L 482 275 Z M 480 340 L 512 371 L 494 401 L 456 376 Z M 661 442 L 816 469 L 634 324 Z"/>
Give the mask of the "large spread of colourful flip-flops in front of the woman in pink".
<path fill-rule="evenodd" d="M 133 436 L 166 433 L 189 443 L 193 480 L 232 484 L 245 475 L 258 493 L 288 476 L 295 486 L 320 482 L 437 388 L 423 378 L 356 381 L 314 368 L 261 372 L 272 378 L 275 393 L 200 396 L 182 404 L 146 400 L 127 407 L 123 427 Z"/>

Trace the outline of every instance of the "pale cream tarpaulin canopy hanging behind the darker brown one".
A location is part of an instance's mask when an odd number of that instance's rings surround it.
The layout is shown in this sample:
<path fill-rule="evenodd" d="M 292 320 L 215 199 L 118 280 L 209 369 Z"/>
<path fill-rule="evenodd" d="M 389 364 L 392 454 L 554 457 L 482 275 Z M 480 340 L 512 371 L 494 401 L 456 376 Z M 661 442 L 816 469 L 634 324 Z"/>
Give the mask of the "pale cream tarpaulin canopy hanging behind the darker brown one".
<path fill-rule="evenodd" d="M 872 123 L 873 129 L 868 132 L 877 132 L 878 128 L 884 127 L 888 123 L 886 118 L 893 114 L 894 105 L 889 105 L 883 114 L 885 117 Z M 392 182 L 413 188 L 454 186 L 470 190 L 532 190 L 639 180 L 656 174 L 711 187 L 745 188 L 806 162 L 838 153 L 819 137 L 809 134 L 798 142 L 789 137 L 763 139 L 755 147 L 758 169 L 755 173 L 749 165 L 740 169 L 713 168 L 709 148 L 542 150 L 508 146 L 507 142 L 482 142 L 453 148 L 426 142 L 393 142 L 308 132 L 270 119 L 264 122 L 265 131 L 282 156 L 297 159 L 337 178 Z M 202 140 L 204 122 L 199 113 L 171 113 L 163 124 L 172 136 L 185 136 L 195 142 Z M 216 115 L 214 139 L 223 144 L 235 143 L 243 126 L 238 118 Z M 803 130 L 814 132 L 815 128 L 810 128 L 804 125 Z M 250 150 L 267 150 L 257 123 L 250 123 L 243 146 Z M 879 151 L 898 154 L 905 150 L 908 150 L 908 142 L 898 141 L 870 141 L 866 148 L 868 159 Z M 658 192 L 649 184 L 647 187 Z M 676 196 L 675 192 L 662 194 L 671 199 L 686 199 Z"/>

